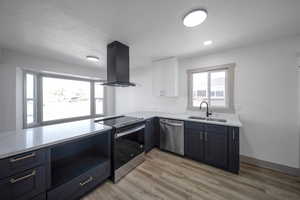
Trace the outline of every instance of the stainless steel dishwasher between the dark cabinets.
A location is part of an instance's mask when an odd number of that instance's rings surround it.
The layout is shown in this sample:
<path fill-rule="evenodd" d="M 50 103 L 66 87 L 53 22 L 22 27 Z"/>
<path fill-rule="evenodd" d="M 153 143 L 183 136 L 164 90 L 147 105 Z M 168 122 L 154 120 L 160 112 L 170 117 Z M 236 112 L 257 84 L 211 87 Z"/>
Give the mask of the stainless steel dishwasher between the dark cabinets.
<path fill-rule="evenodd" d="M 160 149 L 184 155 L 183 121 L 160 119 Z"/>

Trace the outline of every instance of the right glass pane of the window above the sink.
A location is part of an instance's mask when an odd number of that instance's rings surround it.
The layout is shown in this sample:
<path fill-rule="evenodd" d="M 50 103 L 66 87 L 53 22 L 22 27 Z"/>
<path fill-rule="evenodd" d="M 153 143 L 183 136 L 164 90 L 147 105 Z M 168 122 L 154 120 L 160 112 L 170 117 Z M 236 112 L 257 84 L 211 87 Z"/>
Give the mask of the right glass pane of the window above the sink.
<path fill-rule="evenodd" d="M 226 72 L 218 71 L 210 74 L 211 106 L 225 107 Z"/>

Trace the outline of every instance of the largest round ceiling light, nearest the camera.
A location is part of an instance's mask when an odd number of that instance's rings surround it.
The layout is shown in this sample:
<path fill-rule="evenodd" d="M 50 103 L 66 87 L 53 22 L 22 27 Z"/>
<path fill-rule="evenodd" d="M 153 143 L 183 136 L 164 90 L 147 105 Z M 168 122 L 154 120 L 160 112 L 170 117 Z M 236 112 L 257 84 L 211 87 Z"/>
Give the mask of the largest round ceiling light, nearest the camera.
<path fill-rule="evenodd" d="M 204 9 L 196 9 L 188 12 L 183 17 L 183 24 L 186 27 L 195 27 L 202 24 L 207 18 L 207 11 Z"/>

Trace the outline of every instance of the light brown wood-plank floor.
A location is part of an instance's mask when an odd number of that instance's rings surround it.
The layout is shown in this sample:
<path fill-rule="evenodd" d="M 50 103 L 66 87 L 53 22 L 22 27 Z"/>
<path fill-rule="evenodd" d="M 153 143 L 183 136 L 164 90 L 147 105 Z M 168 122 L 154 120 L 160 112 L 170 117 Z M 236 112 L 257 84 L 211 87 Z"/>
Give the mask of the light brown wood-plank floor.
<path fill-rule="evenodd" d="M 300 200 L 300 178 L 241 164 L 239 175 L 152 150 L 119 183 L 106 181 L 82 200 Z"/>

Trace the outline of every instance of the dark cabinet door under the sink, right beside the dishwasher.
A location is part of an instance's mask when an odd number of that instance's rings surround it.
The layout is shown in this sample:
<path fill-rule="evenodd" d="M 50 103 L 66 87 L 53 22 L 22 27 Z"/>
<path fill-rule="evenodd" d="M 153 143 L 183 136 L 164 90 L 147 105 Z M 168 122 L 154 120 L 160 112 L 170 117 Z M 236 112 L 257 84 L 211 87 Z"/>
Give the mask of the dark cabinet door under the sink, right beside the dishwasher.
<path fill-rule="evenodd" d="M 185 156 L 197 161 L 204 159 L 204 131 L 201 129 L 185 129 Z"/>

